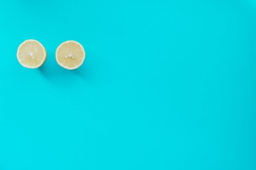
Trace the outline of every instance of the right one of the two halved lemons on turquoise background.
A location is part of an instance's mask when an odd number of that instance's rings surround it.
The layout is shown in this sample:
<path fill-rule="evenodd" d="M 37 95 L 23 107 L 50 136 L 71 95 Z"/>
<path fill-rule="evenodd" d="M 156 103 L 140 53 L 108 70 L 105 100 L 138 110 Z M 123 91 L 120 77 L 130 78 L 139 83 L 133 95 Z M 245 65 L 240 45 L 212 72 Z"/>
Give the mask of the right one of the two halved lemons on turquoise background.
<path fill-rule="evenodd" d="M 79 68 L 85 59 L 83 46 L 72 40 L 61 43 L 55 55 L 58 65 L 68 70 Z"/>

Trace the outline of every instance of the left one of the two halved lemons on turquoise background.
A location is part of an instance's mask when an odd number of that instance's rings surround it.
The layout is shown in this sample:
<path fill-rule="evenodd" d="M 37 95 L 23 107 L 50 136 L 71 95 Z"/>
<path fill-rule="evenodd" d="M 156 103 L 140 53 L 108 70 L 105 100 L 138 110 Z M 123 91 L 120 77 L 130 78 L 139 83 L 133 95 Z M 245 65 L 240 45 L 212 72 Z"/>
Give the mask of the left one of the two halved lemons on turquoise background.
<path fill-rule="evenodd" d="M 25 68 L 38 68 L 46 60 L 45 47 L 34 39 L 22 42 L 17 50 L 17 59 Z"/>

